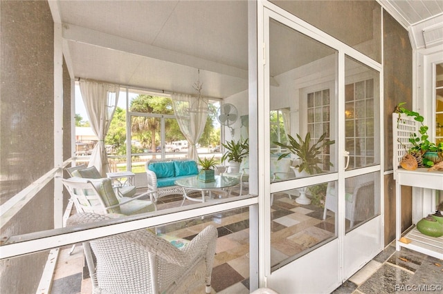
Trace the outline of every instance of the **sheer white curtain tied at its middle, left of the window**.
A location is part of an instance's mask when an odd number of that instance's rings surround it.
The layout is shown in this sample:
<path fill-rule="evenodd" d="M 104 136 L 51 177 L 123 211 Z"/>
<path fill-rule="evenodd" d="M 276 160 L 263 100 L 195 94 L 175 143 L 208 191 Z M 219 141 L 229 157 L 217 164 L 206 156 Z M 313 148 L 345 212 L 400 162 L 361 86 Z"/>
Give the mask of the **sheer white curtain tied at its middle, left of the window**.
<path fill-rule="evenodd" d="M 100 174 L 106 177 L 106 173 L 109 172 L 109 163 L 105 148 L 105 136 L 116 110 L 120 86 L 80 80 L 80 92 L 91 128 L 98 137 L 89 166 L 96 166 Z"/>

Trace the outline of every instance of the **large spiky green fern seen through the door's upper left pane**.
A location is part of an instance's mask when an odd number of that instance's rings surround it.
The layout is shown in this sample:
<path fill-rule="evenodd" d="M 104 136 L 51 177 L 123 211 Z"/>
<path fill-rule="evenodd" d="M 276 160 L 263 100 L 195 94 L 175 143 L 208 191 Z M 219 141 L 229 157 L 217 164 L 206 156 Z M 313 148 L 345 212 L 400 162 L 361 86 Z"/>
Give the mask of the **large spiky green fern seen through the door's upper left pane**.
<path fill-rule="evenodd" d="M 289 144 L 273 142 L 274 144 L 289 150 L 289 152 L 280 155 L 278 160 L 287 157 L 287 155 L 292 153 L 299 158 L 300 162 L 294 166 L 297 168 L 299 173 L 302 173 L 303 171 L 309 175 L 321 173 L 322 170 L 318 164 L 321 164 L 322 161 L 320 158 L 318 158 L 318 155 L 320 155 L 324 147 L 334 144 L 335 141 L 325 139 L 326 133 L 321 135 L 315 144 L 311 143 L 311 133 L 307 133 L 305 139 L 302 139 L 302 137 L 300 137 L 298 134 L 297 139 L 293 138 L 291 135 L 288 135 L 288 138 Z M 331 162 L 329 162 L 329 166 L 332 166 Z"/>

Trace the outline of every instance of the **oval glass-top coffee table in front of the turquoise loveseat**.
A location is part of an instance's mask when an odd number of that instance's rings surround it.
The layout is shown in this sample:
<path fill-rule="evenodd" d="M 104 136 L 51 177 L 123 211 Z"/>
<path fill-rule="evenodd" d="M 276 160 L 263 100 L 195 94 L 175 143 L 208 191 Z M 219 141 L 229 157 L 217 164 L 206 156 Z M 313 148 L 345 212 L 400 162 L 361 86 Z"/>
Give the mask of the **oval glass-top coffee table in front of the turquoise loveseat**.
<path fill-rule="evenodd" d="M 213 182 L 203 182 L 199 180 L 197 176 L 177 179 L 177 181 L 175 181 L 175 184 L 177 186 L 183 187 L 183 202 L 181 202 L 181 205 L 183 205 L 186 199 L 189 199 L 191 201 L 205 202 L 206 191 L 209 192 L 210 197 L 212 197 L 212 191 L 217 191 L 217 193 L 228 195 L 229 193 L 226 192 L 226 190 L 224 189 L 237 186 L 239 183 L 240 182 L 237 177 L 228 177 L 224 175 L 216 175 L 215 181 Z M 201 199 L 189 197 L 187 194 L 187 190 L 200 190 Z"/>

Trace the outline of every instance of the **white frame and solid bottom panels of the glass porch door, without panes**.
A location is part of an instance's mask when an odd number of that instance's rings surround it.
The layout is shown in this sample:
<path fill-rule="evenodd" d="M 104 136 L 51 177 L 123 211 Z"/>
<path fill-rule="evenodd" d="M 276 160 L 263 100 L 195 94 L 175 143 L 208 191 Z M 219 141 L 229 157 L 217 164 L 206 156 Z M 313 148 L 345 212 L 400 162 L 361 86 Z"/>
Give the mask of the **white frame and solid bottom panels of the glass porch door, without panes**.
<path fill-rule="evenodd" d="M 339 286 L 345 279 L 350 277 L 351 272 L 357 271 L 365 262 L 369 262 L 373 257 L 363 257 L 357 262 L 359 266 L 354 266 L 354 264 L 345 261 L 345 256 L 343 252 L 345 248 L 349 248 L 352 244 L 359 245 L 356 242 L 356 237 L 361 237 L 359 232 L 363 230 L 368 230 L 370 234 L 376 235 L 374 239 L 377 240 L 376 251 L 379 252 L 383 250 L 383 202 L 381 202 L 381 212 L 380 215 L 374 217 L 369 222 L 363 224 L 360 228 L 354 229 L 348 234 L 345 234 L 345 217 L 338 217 L 338 231 L 336 232 L 338 238 L 332 240 L 331 242 L 317 248 L 315 251 L 311 251 L 302 257 L 299 257 L 294 262 L 291 262 L 278 270 L 271 273 L 271 233 L 270 233 L 270 223 L 271 223 L 271 203 L 269 195 L 273 192 L 281 190 L 289 190 L 292 188 L 297 188 L 297 186 L 308 186 L 311 184 L 316 184 L 316 179 L 298 179 L 296 181 L 286 181 L 270 184 L 270 141 L 269 141 L 269 19 L 275 19 L 284 25 L 301 32 L 320 43 L 338 50 L 338 75 L 336 80 L 338 81 L 338 113 L 344 113 L 344 87 L 345 87 L 345 56 L 352 57 L 365 64 L 369 68 L 372 68 L 379 72 L 380 75 L 380 96 L 382 96 L 383 89 L 383 76 L 381 63 L 366 57 L 347 46 L 345 43 L 338 41 L 325 32 L 318 30 L 309 23 L 298 19 L 298 17 L 293 16 L 289 12 L 278 8 L 273 3 L 266 1 L 259 1 L 257 7 L 257 48 L 262 48 L 262 50 L 257 50 L 257 72 L 258 72 L 258 124 L 259 126 L 264 126 L 264 132 L 259 133 L 259 143 L 262 148 L 259 148 L 259 177 L 261 179 L 259 182 L 259 203 L 260 203 L 260 257 L 264 257 L 260 260 L 259 272 L 260 272 L 260 286 L 268 286 L 275 289 L 280 293 L 289 292 L 302 292 L 302 293 L 326 293 L 331 292 Z M 262 97 L 262 99 L 260 99 Z M 383 101 L 383 99 L 380 99 Z M 383 107 L 380 104 L 380 113 L 383 113 Z M 344 130 L 344 116 L 338 117 L 338 129 Z M 380 116 L 380 124 L 382 124 L 382 116 Z M 380 127 L 381 129 L 381 127 Z M 264 135 L 262 135 L 264 134 Z M 262 138 L 260 138 L 262 136 Z M 383 130 L 380 130 L 381 145 L 383 146 Z M 368 172 L 378 171 L 380 175 L 380 191 L 379 195 L 381 197 L 383 191 L 383 157 L 380 158 L 381 164 L 377 166 L 372 166 L 370 168 L 363 168 L 362 170 L 352 170 L 350 172 L 345 172 L 345 158 L 342 157 L 345 151 L 345 137 L 338 137 L 336 139 L 336 144 L 338 148 L 338 173 L 328 174 L 327 176 L 320 177 L 331 177 L 330 180 L 338 179 L 338 193 L 344 192 L 345 190 L 345 178 L 348 176 L 359 175 Z M 381 200 L 381 199 L 380 199 Z M 339 199 L 338 210 L 345 211 L 345 199 Z M 343 214 L 343 213 L 342 213 Z M 359 252 L 361 254 L 361 252 Z M 371 250 L 370 255 L 373 252 Z M 319 256 L 321 258 L 319 258 Z M 362 263 L 363 260 L 363 263 Z M 346 264 L 345 264 L 346 263 Z M 344 269 L 344 267 L 347 269 Z M 311 271 L 310 271 L 311 270 Z M 313 274 L 309 275 L 309 273 Z M 317 280 L 311 280 L 313 278 Z M 318 277 L 322 277 L 322 283 L 318 283 Z"/>

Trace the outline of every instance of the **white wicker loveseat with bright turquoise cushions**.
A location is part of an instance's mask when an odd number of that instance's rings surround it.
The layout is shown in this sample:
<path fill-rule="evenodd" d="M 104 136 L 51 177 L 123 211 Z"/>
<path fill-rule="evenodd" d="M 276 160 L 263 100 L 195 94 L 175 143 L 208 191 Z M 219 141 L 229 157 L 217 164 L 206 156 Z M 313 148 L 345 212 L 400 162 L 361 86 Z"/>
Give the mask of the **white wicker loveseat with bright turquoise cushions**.
<path fill-rule="evenodd" d="M 199 168 L 190 159 L 151 159 L 145 164 L 147 191 L 154 195 L 154 201 L 166 195 L 183 194 L 183 188 L 174 184 L 183 177 L 195 177 Z"/>

